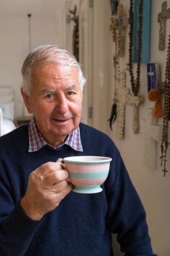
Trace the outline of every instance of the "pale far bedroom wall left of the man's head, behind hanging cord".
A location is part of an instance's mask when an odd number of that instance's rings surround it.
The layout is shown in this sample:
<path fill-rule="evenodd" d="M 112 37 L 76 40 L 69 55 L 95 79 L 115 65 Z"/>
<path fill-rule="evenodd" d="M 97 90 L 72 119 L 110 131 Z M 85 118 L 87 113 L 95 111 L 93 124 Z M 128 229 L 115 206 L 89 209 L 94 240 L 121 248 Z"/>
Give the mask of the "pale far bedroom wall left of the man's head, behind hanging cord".
<path fill-rule="evenodd" d="M 29 20 L 0 18 L 0 86 L 11 86 L 14 91 L 15 119 L 23 116 L 20 95 L 23 61 L 29 54 Z M 40 45 L 55 44 L 55 20 L 31 18 L 32 50 Z"/>

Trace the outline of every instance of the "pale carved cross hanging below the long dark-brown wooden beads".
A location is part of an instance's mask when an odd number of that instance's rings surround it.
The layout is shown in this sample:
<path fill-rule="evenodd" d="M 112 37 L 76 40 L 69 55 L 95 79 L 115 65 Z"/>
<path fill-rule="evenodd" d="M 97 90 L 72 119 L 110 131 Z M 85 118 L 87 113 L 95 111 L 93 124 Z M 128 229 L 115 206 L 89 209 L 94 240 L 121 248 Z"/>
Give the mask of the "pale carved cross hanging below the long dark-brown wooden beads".
<path fill-rule="evenodd" d="M 136 83 L 136 81 L 134 81 Z M 134 96 L 133 93 L 131 93 L 130 95 L 128 95 L 127 97 L 127 104 L 132 106 L 132 110 L 133 110 L 133 133 L 134 134 L 138 134 L 139 133 L 139 121 L 138 121 L 138 107 L 141 105 L 143 99 L 142 97 L 138 94 L 137 96 Z"/>

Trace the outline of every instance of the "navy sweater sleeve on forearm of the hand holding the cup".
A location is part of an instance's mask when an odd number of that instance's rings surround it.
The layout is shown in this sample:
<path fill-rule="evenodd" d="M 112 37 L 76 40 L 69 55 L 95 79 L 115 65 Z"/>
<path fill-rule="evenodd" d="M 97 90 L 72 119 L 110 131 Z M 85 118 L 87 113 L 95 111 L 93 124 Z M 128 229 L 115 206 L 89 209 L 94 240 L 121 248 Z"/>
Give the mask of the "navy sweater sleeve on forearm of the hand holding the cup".
<path fill-rule="evenodd" d="M 42 221 L 27 217 L 18 202 L 8 217 L 0 218 L 0 255 L 23 255 Z"/>

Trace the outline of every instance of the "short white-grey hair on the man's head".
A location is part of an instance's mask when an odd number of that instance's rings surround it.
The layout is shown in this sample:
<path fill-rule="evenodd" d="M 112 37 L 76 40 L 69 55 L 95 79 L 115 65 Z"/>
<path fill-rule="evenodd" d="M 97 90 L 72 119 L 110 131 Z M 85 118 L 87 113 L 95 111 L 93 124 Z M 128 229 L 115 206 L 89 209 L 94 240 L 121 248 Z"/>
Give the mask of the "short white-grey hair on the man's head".
<path fill-rule="evenodd" d="M 31 75 L 33 70 L 50 62 L 59 62 L 69 67 L 75 67 L 78 71 L 81 90 L 86 83 L 80 63 L 75 56 L 65 48 L 54 45 L 39 46 L 31 52 L 23 62 L 21 74 L 23 92 L 30 95 L 32 90 Z"/>

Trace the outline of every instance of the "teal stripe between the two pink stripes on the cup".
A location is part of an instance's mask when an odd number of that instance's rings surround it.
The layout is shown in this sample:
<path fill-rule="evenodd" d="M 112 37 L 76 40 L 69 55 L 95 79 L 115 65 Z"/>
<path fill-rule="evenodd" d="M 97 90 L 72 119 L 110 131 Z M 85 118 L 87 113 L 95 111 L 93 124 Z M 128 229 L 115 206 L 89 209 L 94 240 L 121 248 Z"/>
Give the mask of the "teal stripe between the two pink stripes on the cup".
<path fill-rule="evenodd" d="M 91 180 L 91 179 L 103 179 L 107 177 L 109 170 L 100 173 L 78 173 L 78 172 L 69 172 L 69 178 L 76 178 L 82 180 Z"/>

